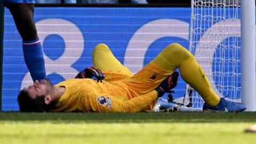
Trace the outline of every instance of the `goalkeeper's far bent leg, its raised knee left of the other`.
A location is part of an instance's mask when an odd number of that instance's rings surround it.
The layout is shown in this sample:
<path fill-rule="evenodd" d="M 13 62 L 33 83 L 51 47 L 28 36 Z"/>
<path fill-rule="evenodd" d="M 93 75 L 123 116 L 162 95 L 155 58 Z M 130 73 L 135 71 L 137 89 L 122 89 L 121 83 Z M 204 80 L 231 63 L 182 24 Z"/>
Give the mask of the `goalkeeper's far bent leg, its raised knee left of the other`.
<path fill-rule="evenodd" d="M 105 74 L 105 81 L 117 81 L 131 77 L 131 71 L 119 62 L 106 44 L 98 44 L 93 51 L 93 66 Z"/>

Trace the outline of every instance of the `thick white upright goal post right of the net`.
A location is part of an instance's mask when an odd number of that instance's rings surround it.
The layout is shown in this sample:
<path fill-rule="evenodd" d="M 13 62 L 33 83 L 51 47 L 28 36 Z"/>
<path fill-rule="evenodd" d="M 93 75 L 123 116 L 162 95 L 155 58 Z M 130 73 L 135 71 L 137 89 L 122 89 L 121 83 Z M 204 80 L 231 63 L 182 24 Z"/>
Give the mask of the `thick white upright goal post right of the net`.
<path fill-rule="evenodd" d="M 256 111 L 255 0 L 241 1 L 242 102 L 246 111 Z"/>

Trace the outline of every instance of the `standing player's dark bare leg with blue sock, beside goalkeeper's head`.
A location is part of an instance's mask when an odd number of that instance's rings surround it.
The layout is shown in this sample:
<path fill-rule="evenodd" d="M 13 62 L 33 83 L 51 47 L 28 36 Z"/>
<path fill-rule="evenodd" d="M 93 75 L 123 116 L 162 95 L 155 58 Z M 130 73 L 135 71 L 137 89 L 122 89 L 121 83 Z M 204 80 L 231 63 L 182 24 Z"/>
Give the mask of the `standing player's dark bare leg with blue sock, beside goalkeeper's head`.
<path fill-rule="evenodd" d="M 33 81 L 45 79 L 43 51 L 34 22 L 34 4 L 7 3 L 6 5 L 22 37 L 24 59 Z"/>

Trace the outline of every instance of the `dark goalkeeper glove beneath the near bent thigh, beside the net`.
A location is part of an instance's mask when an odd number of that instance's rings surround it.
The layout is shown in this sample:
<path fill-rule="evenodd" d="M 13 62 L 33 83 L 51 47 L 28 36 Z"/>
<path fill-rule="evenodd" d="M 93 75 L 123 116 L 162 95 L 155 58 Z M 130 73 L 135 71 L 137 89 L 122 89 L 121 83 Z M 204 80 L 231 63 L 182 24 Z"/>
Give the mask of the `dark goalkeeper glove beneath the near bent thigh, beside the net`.
<path fill-rule="evenodd" d="M 158 98 L 162 97 L 164 93 L 170 92 L 171 89 L 173 89 L 175 86 L 177 86 L 179 73 L 174 72 L 169 77 L 165 78 L 164 81 L 159 84 L 158 87 L 156 87 L 156 91 L 158 92 Z"/>

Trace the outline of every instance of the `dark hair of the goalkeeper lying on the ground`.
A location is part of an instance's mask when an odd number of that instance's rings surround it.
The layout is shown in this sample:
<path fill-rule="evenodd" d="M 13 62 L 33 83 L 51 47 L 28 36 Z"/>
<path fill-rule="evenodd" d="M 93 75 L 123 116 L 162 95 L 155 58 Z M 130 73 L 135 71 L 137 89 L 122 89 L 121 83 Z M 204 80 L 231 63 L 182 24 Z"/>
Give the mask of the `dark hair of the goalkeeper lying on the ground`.
<path fill-rule="evenodd" d="M 46 112 L 48 106 L 44 102 L 44 95 L 32 99 L 26 90 L 21 90 L 18 95 L 21 112 Z"/>

